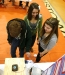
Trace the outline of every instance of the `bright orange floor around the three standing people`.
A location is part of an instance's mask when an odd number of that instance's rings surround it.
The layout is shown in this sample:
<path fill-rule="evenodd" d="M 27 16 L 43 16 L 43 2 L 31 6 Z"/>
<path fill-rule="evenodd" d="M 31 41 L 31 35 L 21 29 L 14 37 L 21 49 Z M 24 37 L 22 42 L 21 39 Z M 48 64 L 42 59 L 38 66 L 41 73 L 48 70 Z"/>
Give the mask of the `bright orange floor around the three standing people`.
<path fill-rule="evenodd" d="M 33 0 L 31 2 L 37 2 L 41 6 L 40 13 L 43 16 L 43 22 L 47 18 L 52 16 L 50 11 L 48 10 L 48 8 L 45 5 L 45 0 L 38 0 L 38 1 Z M 47 2 L 50 3 L 49 1 L 47 1 Z M 1 26 L 0 27 L 0 64 L 5 63 L 5 58 L 11 58 L 10 45 L 7 42 L 7 31 L 6 31 L 7 22 L 13 18 L 23 19 L 24 16 L 27 14 L 27 9 L 22 9 L 22 8 L 18 7 L 17 0 L 16 0 L 15 4 L 16 4 L 16 6 L 12 6 L 12 3 L 5 2 L 4 7 L 2 7 L 2 5 L 0 5 L 0 26 Z M 60 58 L 62 55 L 65 54 L 65 50 L 64 50 L 65 49 L 65 41 L 64 41 L 65 36 L 64 36 L 64 31 L 61 28 L 63 29 L 64 27 L 62 25 L 59 26 L 59 38 L 58 38 L 57 44 L 55 45 L 55 47 L 52 50 L 49 51 L 49 53 L 47 55 L 42 57 L 40 62 L 54 62 L 58 58 Z M 36 58 L 33 55 L 38 53 L 37 41 L 35 42 L 33 49 L 34 49 L 34 52 L 31 53 L 30 58 L 27 58 L 25 55 L 26 59 L 31 59 L 31 60 L 35 61 Z M 17 49 L 16 53 L 18 56 L 18 54 L 19 54 L 18 49 Z"/>

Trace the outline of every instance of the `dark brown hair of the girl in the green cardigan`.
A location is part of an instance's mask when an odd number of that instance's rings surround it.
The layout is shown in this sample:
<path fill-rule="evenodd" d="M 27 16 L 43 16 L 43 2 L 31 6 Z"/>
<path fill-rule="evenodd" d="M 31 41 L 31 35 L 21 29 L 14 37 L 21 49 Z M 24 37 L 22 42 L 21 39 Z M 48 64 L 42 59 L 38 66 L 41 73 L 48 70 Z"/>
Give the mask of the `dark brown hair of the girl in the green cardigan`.
<path fill-rule="evenodd" d="M 39 12 L 40 12 L 40 9 L 39 9 L 39 5 L 37 3 L 31 3 L 30 6 L 29 6 L 29 9 L 28 9 L 28 19 L 31 20 L 32 19 L 32 11 L 33 9 L 37 9 L 38 10 L 38 15 L 36 16 L 36 20 L 39 18 Z"/>

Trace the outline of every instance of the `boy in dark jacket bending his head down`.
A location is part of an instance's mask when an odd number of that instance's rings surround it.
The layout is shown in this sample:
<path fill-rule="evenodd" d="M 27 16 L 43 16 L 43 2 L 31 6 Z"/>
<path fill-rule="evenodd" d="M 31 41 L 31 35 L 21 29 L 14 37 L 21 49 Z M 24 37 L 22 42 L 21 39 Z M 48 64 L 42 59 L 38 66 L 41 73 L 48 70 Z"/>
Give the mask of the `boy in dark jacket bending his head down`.
<path fill-rule="evenodd" d="M 19 47 L 20 57 L 24 56 L 24 49 L 26 54 L 30 56 L 31 47 L 31 31 L 28 25 L 22 19 L 12 19 L 7 23 L 8 42 L 11 45 L 11 57 L 16 57 L 16 49 Z"/>

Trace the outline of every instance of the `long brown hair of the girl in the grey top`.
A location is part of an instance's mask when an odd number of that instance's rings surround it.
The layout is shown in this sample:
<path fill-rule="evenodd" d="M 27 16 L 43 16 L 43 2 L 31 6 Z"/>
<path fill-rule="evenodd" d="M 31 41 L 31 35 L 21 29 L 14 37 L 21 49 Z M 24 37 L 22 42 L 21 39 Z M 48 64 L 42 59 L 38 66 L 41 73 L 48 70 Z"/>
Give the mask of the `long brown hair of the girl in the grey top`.
<path fill-rule="evenodd" d="M 45 33 L 45 29 L 44 29 L 45 24 L 48 24 L 48 25 L 52 28 L 51 33 L 43 40 L 44 43 L 47 44 L 54 33 L 56 34 L 56 36 L 57 36 L 57 38 L 58 38 L 58 25 L 59 25 L 59 21 L 57 20 L 57 18 L 53 18 L 53 17 L 48 18 L 48 19 L 44 22 L 44 24 L 43 24 L 43 26 L 42 26 L 42 30 L 41 30 L 41 34 L 40 34 L 41 37 L 42 37 L 42 36 L 44 35 L 44 33 Z"/>

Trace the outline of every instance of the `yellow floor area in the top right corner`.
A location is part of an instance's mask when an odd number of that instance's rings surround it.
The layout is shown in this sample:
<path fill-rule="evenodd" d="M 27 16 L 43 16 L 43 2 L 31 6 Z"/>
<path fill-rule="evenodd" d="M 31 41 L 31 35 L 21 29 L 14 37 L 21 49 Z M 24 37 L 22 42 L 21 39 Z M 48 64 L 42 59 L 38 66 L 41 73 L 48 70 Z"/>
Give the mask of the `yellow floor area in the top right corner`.
<path fill-rule="evenodd" d="M 59 14 L 59 16 L 62 18 L 62 20 L 65 22 L 65 0 L 48 0 L 55 11 Z M 60 10 L 59 10 L 60 9 Z"/>

